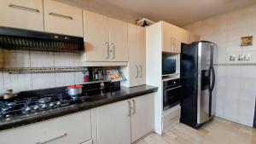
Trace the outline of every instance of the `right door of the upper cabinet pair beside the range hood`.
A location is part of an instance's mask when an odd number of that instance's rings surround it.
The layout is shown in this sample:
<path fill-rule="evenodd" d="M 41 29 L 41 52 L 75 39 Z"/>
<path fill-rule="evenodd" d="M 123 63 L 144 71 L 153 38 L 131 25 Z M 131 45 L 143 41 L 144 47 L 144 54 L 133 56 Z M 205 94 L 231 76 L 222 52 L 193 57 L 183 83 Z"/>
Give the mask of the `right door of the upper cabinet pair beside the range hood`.
<path fill-rule="evenodd" d="M 111 61 L 128 61 L 127 23 L 108 18 Z"/>

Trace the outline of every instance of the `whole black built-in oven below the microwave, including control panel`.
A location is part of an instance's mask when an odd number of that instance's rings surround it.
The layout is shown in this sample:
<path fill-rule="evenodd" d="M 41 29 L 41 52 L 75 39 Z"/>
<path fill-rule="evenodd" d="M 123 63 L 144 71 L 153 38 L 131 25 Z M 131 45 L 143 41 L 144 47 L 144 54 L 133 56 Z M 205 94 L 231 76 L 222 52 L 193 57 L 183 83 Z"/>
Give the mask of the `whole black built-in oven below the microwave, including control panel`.
<path fill-rule="evenodd" d="M 182 84 L 180 79 L 163 80 L 163 110 L 180 103 Z"/>

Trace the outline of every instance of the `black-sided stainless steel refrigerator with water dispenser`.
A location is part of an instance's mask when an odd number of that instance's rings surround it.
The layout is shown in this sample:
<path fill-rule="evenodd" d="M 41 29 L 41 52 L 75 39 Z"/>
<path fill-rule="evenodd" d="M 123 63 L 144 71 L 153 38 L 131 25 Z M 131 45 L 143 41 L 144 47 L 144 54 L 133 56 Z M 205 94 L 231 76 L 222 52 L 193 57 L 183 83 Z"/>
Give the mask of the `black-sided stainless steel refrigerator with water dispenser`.
<path fill-rule="evenodd" d="M 183 44 L 181 52 L 181 119 L 195 129 L 211 120 L 216 106 L 218 47 L 200 41 Z"/>

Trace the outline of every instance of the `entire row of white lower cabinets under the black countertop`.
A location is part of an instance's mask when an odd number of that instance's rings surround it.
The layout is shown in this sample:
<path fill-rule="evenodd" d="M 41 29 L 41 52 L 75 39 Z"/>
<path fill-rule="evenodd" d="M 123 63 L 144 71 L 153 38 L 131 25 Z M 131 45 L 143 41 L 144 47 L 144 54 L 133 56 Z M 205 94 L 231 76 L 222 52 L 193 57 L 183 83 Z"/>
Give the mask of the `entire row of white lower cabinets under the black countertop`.
<path fill-rule="evenodd" d="M 131 144 L 154 130 L 154 93 L 0 131 L 0 144 Z"/>

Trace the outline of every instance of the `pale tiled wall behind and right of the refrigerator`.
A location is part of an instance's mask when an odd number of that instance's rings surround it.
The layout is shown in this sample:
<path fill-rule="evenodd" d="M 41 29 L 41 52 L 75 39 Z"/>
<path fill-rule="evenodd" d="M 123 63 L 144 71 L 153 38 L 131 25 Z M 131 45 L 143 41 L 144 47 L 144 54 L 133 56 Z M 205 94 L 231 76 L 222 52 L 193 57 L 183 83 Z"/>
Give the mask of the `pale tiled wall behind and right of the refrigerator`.
<path fill-rule="evenodd" d="M 253 125 L 256 95 L 256 4 L 228 14 L 195 22 L 185 29 L 201 35 L 201 40 L 218 44 L 218 117 Z M 253 36 L 253 46 L 241 47 L 241 37 Z M 251 60 L 239 61 L 238 55 Z M 230 61 L 236 55 L 236 61 Z"/>

